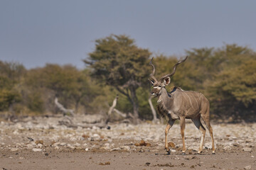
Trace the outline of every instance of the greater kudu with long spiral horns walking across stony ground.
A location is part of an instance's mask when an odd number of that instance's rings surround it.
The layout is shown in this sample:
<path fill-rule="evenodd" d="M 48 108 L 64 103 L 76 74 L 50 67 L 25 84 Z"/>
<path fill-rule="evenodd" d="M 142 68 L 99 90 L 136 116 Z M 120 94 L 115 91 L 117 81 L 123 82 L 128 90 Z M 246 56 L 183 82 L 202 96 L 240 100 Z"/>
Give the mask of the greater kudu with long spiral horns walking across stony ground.
<path fill-rule="evenodd" d="M 159 81 L 154 77 L 155 67 L 150 61 L 150 65 L 153 67 L 153 72 L 150 74 L 149 81 L 153 85 L 151 95 L 158 98 L 157 101 L 157 111 L 160 115 L 166 116 L 169 118 L 168 123 L 165 129 L 165 149 L 170 154 L 169 145 L 167 142 L 167 136 L 170 128 L 174 125 L 175 120 L 180 120 L 181 126 L 181 137 L 183 141 L 182 154 L 186 154 L 185 140 L 184 140 L 184 130 L 185 130 L 185 119 L 191 119 L 196 125 L 196 128 L 201 132 L 201 142 L 198 153 L 202 152 L 203 141 L 206 136 L 206 128 L 203 127 L 201 120 L 206 123 L 206 127 L 210 132 L 210 137 L 212 140 L 212 150 L 215 154 L 214 140 L 213 140 L 213 129 L 210 126 L 210 104 L 208 99 L 203 96 L 203 94 L 196 91 L 183 91 L 179 87 L 174 87 L 174 89 L 169 93 L 165 86 L 169 85 L 171 81 L 171 76 L 175 74 L 176 67 L 178 64 L 185 62 L 184 60 L 177 62 L 174 65 L 173 72 L 171 74 L 166 74 L 164 77 L 161 77 Z"/>

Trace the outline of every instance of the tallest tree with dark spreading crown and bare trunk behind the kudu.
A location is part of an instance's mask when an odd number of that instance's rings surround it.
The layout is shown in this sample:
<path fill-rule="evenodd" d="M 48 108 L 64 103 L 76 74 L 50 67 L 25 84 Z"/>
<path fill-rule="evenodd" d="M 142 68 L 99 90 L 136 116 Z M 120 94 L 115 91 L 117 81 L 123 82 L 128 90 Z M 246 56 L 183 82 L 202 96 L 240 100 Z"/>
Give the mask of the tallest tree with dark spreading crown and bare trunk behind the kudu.
<path fill-rule="evenodd" d="M 139 118 L 136 91 L 146 84 L 149 76 L 151 52 L 135 45 L 126 35 L 110 35 L 96 40 L 95 50 L 89 54 L 91 76 L 102 84 L 113 86 L 132 103 L 135 118 Z"/>

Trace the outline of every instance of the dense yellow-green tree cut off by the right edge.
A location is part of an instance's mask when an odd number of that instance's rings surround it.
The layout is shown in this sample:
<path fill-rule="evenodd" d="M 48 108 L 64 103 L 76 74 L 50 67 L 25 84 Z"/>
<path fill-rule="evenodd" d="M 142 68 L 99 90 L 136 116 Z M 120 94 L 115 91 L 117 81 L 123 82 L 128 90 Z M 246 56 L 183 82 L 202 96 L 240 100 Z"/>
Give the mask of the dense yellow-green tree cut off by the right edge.
<path fill-rule="evenodd" d="M 255 114 L 256 54 L 247 47 L 225 45 L 213 52 L 218 63 L 212 78 L 206 79 L 211 111 L 220 117 L 248 119 Z"/>

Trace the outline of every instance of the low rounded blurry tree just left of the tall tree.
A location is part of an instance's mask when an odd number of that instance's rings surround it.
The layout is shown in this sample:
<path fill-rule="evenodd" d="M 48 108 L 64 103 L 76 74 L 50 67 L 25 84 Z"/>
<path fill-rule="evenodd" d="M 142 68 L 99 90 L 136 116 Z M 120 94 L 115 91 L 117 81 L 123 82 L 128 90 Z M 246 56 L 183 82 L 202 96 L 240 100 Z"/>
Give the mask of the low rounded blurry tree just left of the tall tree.
<path fill-rule="evenodd" d="M 75 108 L 78 112 L 81 104 L 89 106 L 88 101 L 99 94 L 94 85 L 86 70 L 81 71 L 71 65 L 46 64 L 28 71 L 24 98 L 27 97 L 28 108 L 32 111 L 36 108 L 41 108 L 40 112 L 45 109 L 54 111 L 53 101 L 58 97 L 63 106 Z"/>

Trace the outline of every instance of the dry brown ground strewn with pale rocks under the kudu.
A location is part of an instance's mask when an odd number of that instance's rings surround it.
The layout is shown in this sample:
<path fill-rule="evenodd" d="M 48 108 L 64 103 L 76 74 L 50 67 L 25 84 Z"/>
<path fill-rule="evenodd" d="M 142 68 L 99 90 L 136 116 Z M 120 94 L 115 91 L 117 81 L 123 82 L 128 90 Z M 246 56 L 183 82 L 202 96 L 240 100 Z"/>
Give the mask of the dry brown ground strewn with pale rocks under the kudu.
<path fill-rule="evenodd" d="M 79 125 L 86 118 L 77 116 Z M 212 123 L 216 154 L 206 134 L 187 120 L 186 155 L 181 155 L 178 124 L 169 132 L 171 154 L 164 151 L 165 125 L 110 124 L 107 128 L 67 128 L 63 118 L 25 118 L 0 122 L 0 169 L 256 169 L 256 123 Z"/>

